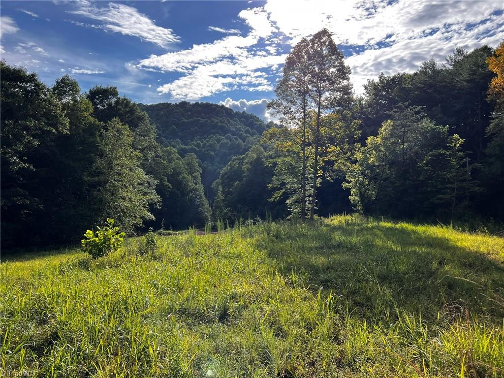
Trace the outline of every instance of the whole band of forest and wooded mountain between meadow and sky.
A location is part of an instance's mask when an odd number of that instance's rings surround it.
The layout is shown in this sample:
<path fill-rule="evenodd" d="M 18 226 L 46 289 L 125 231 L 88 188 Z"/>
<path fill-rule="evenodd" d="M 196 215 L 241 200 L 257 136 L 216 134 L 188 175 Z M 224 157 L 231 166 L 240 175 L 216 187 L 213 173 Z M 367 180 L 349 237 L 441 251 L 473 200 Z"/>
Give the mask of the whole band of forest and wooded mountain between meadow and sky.
<path fill-rule="evenodd" d="M 455 46 L 454 46 L 455 48 Z M 210 103 L 136 104 L 1 64 L 2 247 L 210 221 L 358 211 L 504 220 L 504 43 L 380 75 L 356 96 L 327 30 L 285 61 L 277 122 Z"/>

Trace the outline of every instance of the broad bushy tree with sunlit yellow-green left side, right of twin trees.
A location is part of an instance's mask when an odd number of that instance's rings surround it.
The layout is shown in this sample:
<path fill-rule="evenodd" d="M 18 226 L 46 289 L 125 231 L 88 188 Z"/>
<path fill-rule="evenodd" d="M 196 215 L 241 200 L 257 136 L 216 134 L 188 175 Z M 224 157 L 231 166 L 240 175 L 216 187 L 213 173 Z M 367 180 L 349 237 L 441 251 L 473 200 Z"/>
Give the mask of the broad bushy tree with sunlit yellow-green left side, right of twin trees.
<path fill-rule="evenodd" d="M 393 217 L 453 217 L 474 186 L 461 145 L 418 108 L 396 110 L 376 137 L 367 138 L 347 173 L 354 208 Z"/>

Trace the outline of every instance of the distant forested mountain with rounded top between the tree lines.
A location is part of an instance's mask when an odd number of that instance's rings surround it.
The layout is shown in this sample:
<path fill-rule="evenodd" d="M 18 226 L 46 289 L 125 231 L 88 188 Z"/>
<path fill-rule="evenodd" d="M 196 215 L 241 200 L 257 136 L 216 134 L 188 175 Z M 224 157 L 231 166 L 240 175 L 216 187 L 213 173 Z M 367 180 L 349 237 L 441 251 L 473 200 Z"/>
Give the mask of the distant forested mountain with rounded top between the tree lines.
<path fill-rule="evenodd" d="M 261 139 L 267 124 L 256 115 L 209 102 L 139 104 L 159 131 L 159 142 L 183 156 L 195 153 L 202 163 L 207 197 L 211 185 L 233 156 L 242 155 Z"/>

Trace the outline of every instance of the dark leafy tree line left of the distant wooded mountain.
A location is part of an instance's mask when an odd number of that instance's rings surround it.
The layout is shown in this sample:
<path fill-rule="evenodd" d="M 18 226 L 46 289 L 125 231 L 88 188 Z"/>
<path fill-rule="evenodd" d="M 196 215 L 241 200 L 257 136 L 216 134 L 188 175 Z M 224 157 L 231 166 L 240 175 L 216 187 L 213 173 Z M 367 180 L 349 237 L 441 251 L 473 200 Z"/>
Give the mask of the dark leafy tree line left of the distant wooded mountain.
<path fill-rule="evenodd" d="M 47 87 L 2 61 L 1 101 L 3 248 L 76 241 L 107 218 L 128 234 L 209 221 L 196 155 L 160 144 L 115 87 Z"/>

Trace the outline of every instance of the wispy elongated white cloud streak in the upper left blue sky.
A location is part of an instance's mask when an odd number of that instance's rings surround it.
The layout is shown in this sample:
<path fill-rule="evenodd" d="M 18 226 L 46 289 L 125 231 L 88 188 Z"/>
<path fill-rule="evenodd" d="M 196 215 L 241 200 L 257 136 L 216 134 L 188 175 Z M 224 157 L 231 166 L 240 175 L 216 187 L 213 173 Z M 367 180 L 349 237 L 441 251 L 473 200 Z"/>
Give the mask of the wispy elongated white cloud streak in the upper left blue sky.
<path fill-rule="evenodd" d="M 105 30 L 139 37 L 164 48 L 179 41 L 173 30 L 157 26 L 136 8 L 124 4 L 108 3 L 107 7 L 97 8 L 88 1 L 81 1 L 78 9 L 70 13 L 101 21 L 100 27 Z"/>

